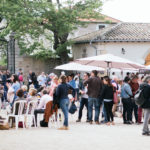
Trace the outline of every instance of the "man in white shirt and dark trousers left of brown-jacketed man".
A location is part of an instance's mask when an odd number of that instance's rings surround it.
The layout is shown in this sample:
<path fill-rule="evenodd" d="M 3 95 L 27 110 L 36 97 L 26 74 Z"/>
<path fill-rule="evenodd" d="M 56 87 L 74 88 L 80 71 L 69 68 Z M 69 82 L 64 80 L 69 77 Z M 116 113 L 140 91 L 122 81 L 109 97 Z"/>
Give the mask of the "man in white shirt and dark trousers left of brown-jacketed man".
<path fill-rule="evenodd" d="M 85 73 L 83 80 L 86 81 L 88 80 L 90 74 L 89 73 Z M 83 82 L 84 82 L 83 81 Z M 84 108 L 84 106 L 87 108 L 87 122 L 88 122 L 88 95 L 87 95 L 87 86 L 84 86 L 83 83 L 81 84 L 80 87 L 80 93 L 81 93 L 81 101 L 80 101 L 80 108 L 79 108 L 79 116 L 78 116 L 78 120 L 76 122 L 81 122 L 81 118 L 82 118 L 82 110 Z"/>

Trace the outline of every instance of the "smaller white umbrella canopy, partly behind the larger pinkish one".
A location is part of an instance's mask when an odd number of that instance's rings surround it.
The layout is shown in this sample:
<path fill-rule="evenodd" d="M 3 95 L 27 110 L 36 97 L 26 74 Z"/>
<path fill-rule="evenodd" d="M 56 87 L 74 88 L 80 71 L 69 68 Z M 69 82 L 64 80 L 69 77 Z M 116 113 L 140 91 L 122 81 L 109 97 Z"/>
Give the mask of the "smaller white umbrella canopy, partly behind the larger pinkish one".
<path fill-rule="evenodd" d="M 89 66 L 89 65 L 82 65 L 79 63 L 70 62 L 64 65 L 57 66 L 55 69 L 57 70 L 71 70 L 71 71 L 104 71 L 104 68 L 101 67 L 95 67 L 95 66 Z"/>

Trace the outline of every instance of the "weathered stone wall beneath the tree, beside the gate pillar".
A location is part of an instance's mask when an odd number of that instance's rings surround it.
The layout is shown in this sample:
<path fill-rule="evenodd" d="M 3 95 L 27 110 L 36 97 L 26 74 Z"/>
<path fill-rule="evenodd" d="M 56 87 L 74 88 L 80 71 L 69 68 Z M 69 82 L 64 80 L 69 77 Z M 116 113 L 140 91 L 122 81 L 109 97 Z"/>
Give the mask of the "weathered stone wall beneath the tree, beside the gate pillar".
<path fill-rule="evenodd" d="M 20 49 L 17 42 L 15 43 L 15 73 L 21 68 L 24 73 L 24 78 L 27 78 L 27 75 L 30 70 L 39 75 L 41 72 L 60 74 L 60 71 L 55 70 L 54 68 L 57 65 L 60 65 L 59 59 L 36 59 L 32 56 L 20 55 Z"/>

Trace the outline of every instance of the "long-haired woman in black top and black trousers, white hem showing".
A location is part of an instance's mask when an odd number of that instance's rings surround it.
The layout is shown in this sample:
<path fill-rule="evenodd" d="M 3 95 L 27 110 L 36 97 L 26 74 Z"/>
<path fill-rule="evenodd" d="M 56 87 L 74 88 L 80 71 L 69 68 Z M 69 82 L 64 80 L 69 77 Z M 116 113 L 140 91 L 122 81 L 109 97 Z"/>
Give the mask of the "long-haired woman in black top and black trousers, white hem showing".
<path fill-rule="evenodd" d="M 108 76 L 103 78 L 104 88 L 102 90 L 102 99 L 104 100 L 104 107 L 107 114 L 107 125 L 110 125 L 110 119 L 112 125 L 114 125 L 114 116 L 112 113 L 113 107 L 113 85 L 111 84 L 111 80 Z"/>

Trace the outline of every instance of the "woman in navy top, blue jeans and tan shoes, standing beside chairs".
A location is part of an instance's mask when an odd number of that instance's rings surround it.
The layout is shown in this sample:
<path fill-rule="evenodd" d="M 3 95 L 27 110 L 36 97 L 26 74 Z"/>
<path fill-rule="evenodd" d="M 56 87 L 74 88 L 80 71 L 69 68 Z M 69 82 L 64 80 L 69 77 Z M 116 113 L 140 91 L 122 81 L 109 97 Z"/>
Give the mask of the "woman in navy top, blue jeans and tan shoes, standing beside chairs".
<path fill-rule="evenodd" d="M 59 130 L 68 130 L 68 106 L 69 106 L 69 99 L 68 99 L 68 91 L 69 89 L 74 91 L 74 88 L 66 83 L 66 76 L 62 75 L 60 77 L 61 84 L 56 89 L 56 95 L 59 98 L 60 108 L 64 114 L 64 126 L 59 128 Z"/>

